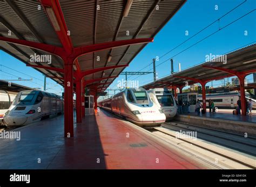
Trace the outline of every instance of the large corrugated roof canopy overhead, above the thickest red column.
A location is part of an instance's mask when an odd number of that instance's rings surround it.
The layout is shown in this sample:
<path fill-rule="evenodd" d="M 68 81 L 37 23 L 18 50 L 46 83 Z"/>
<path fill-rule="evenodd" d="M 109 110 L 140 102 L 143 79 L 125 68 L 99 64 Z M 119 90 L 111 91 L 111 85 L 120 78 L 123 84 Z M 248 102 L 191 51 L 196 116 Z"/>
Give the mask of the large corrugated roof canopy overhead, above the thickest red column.
<path fill-rule="evenodd" d="M 81 47 L 119 40 L 150 39 L 184 3 L 185 0 L 0 1 L 0 50 L 23 61 L 26 65 L 32 65 L 39 72 L 63 85 L 64 73 L 55 71 L 55 68 L 63 69 L 62 59 L 52 55 L 51 63 L 35 62 L 35 60 L 31 62 L 31 55 L 50 53 L 28 47 L 28 45 L 8 42 L 8 39 L 33 41 L 64 48 L 68 45 Z M 50 7 L 48 4 L 55 6 Z M 59 23 L 59 20 L 62 23 Z M 62 28 L 66 28 L 68 32 L 66 33 Z M 87 71 L 119 66 L 87 74 L 84 77 L 85 81 L 98 80 L 88 83 L 87 86 L 96 84 L 102 87 L 99 91 L 104 91 L 146 44 L 125 45 L 87 53 L 78 57 L 73 69 Z M 39 66 L 52 68 L 45 69 Z"/>

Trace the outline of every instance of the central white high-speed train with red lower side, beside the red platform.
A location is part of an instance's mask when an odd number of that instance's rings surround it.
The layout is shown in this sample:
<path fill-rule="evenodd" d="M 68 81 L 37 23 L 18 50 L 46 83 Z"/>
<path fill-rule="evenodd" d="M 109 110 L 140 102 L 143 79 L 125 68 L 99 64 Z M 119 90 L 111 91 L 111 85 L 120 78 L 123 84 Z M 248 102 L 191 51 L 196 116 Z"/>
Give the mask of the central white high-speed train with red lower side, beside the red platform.
<path fill-rule="evenodd" d="M 112 98 L 100 101 L 98 106 L 140 127 L 154 127 L 166 120 L 163 111 L 151 101 L 144 88 L 127 88 Z"/>

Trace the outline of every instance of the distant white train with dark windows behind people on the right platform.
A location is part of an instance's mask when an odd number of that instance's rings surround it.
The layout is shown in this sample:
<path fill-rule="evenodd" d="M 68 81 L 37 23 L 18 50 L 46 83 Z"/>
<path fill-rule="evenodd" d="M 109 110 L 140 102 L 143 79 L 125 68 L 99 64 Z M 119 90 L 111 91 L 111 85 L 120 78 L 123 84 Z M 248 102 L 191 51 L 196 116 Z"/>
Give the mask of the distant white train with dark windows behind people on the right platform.
<path fill-rule="evenodd" d="M 214 93 L 206 94 L 206 105 L 208 100 L 211 99 L 214 102 L 215 109 L 225 108 L 225 109 L 234 109 L 237 107 L 237 100 L 240 96 L 240 92 L 226 92 L 226 93 Z M 202 95 L 198 95 L 197 99 L 202 102 Z M 256 109 L 256 99 L 248 92 L 245 92 L 245 99 L 251 99 L 254 101 L 253 109 Z"/>

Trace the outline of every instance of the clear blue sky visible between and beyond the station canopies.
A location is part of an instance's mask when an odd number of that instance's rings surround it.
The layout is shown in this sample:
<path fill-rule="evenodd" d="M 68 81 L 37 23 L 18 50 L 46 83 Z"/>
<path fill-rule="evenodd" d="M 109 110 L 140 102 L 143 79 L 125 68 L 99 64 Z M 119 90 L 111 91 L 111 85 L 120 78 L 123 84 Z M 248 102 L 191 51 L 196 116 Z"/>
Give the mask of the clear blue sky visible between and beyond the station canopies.
<path fill-rule="evenodd" d="M 244 0 L 188 0 L 185 5 L 174 15 L 174 17 L 168 22 L 165 27 L 154 38 L 154 42 L 148 44 L 138 55 L 133 59 L 129 67 L 125 68 L 125 71 L 138 71 L 149 65 L 152 58 L 163 56 L 166 52 L 170 51 L 184 40 L 197 33 L 205 26 L 214 22 L 225 13 L 233 9 L 235 6 L 244 2 Z M 215 5 L 218 5 L 218 10 L 215 10 Z M 220 22 L 213 24 L 206 30 L 198 34 L 196 37 L 188 40 L 185 44 L 179 46 L 176 50 L 173 50 L 165 57 L 159 59 L 156 62 L 158 66 L 163 61 L 173 57 L 175 54 L 183 51 L 187 47 L 203 39 L 209 34 L 217 31 L 219 27 L 223 27 L 235 19 L 245 15 L 246 13 L 254 10 L 256 7 L 256 0 L 247 0 L 244 4 L 237 9 L 229 13 L 224 18 L 220 19 Z M 159 7 L 161 9 L 161 7 Z M 160 10 L 159 10 L 160 11 Z M 256 11 L 241 18 L 237 22 L 231 24 L 223 30 L 213 34 L 211 37 L 201 41 L 199 44 L 191 47 L 183 53 L 180 53 L 174 60 L 174 71 L 178 71 L 178 63 L 181 63 L 181 70 L 191 67 L 193 65 L 203 63 L 207 54 L 224 54 L 226 52 L 233 51 L 247 44 L 256 41 Z M 188 36 L 185 32 L 188 31 Z M 245 31 L 248 35 L 245 36 Z M 9 56 L 8 54 L 0 51 L 0 64 L 8 66 L 15 70 L 25 72 L 27 75 L 12 71 L 6 67 L 0 66 L 0 79 L 17 79 L 21 77 L 23 79 L 30 79 L 34 77 L 33 81 L 14 81 L 18 84 L 30 86 L 30 87 L 43 87 L 43 75 L 30 67 L 26 67 L 19 60 Z M 143 71 L 150 70 L 152 65 L 146 67 Z M 158 78 L 163 78 L 170 74 L 170 60 L 157 67 Z M 5 73 L 7 72 L 7 73 Z M 10 75 L 10 74 L 13 75 Z M 15 76 L 14 76 L 15 75 Z M 37 79 L 35 79 L 37 78 Z M 120 75 L 110 88 L 117 88 L 117 81 L 125 79 L 124 75 Z M 252 75 L 248 75 L 247 79 L 252 82 Z M 137 78 L 136 75 L 129 76 L 129 80 L 138 80 L 139 86 L 145 85 L 153 81 L 153 74 L 143 75 Z M 231 80 L 231 78 L 230 78 Z M 63 88 L 56 85 L 56 82 L 47 79 L 48 88 L 47 91 L 60 94 Z M 208 83 L 211 85 L 211 82 Z M 213 86 L 221 85 L 221 81 L 214 81 Z M 111 93 L 111 92 L 110 92 Z"/>

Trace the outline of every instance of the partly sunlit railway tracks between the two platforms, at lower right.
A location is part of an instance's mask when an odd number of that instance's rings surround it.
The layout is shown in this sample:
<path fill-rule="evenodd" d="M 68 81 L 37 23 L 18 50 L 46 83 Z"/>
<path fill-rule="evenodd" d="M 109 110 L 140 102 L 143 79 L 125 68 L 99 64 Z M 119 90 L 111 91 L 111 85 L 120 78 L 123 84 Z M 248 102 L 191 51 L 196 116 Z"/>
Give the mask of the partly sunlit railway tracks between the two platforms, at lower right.
<path fill-rule="evenodd" d="M 161 127 L 155 127 L 147 130 L 151 131 L 151 133 L 153 133 L 154 135 L 159 136 L 159 138 L 170 141 L 172 144 L 182 145 L 192 154 L 196 153 L 195 155 L 201 158 L 201 160 L 207 160 L 212 162 L 213 164 L 220 164 L 224 166 L 223 169 L 226 169 L 226 167 L 231 167 L 233 169 L 256 169 L 254 156 L 256 144 L 254 138 L 248 138 L 245 141 L 244 139 L 242 139 L 244 137 L 240 135 L 227 135 L 227 133 L 220 132 L 218 130 L 210 131 L 209 129 L 189 126 L 188 124 L 179 122 L 171 122 L 171 124 L 170 122 L 163 123 Z M 198 134 L 197 137 L 177 137 L 177 135 L 180 134 L 180 130 L 182 130 L 183 132 L 193 130 L 197 131 Z M 199 139 L 199 137 L 203 137 L 204 140 L 202 140 L 201 138 Z M 208 140 L 206 140 L 206 137 L 208 138 Z M 232 138 L 235 138 L 235 141 L 233 141 Z M 213 139 L 215 140 L 214 142 L 212 141 Z M 239 142 L 239 139 L 242 141 Z M 220 142 L 221 146 L 218 146 L 217 143 Z M 229 148 L 226 148 L 227 144 L 230 144 Z M 234 148 L 236 146 L 239 146 L 239 148 L 235 150 Z M 241 150 L 243 151 L 243 153 L 247 152 L 247 154 L 249 155 L 241 154 Z"/>

